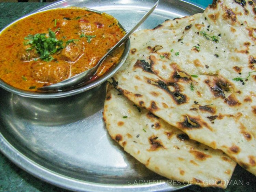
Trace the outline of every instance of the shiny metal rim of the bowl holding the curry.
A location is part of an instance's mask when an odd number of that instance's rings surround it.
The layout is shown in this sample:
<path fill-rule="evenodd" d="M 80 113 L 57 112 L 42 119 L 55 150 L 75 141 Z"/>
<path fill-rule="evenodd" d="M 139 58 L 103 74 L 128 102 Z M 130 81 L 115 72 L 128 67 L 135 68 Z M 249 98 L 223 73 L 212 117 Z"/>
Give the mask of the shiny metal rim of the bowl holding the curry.
<path fill-rule="evenodd" d="M 7 28 L 9 28 L 13 24 L 15 24 L 17 21 L 22 20 L 26 17 L 29 17 L 31 15 L 35 15 L 35 14 L 38 14 L 38 13 L 41 13 L 41 12 L 46 12 L 46 11 L 49 11 L 49 10 L 70 9 L 70 8 L 71 9 L 72 8 L 73 9 L 82 9 L 82 10 L 91 11 L 91 12 L 95 12 L 95 13 L 100 13 L 100 14 L 104 13 L 104 14 L 110 15 L 108 13 L 101 12 L 101 11 L 98 11 L 98 10 L 94 10 L 94 9 L 90 9 L 90 8 L 86 8 L 86 7 L 76 7 L 76 6 L 61 7 L 61 8 L 50 8 L 50 9 L 46 9 L 46 10 L 35 10 L 35 11 L 30 12 L 30 13 L 22 16 L 22 17 L 19 17 L 18 19 L 14 20 L 13 22 L 11 22 L 7 26 L 5 26 L 3 29 L 1 29 L 0 30 L 0 37 L 1 37 L 1 33 L 3 31 L 5 31 Z M 112 15 L 110 15 L 110 16 L 112 16 Z M 115 17 L 113 17 L 113 18 L 115 18 Z M 119 21 L 118 21 L 118 25 L 120 26 L 120 28 L 122 28 L 127 33 L 127 30 L 125 29 L 125 27 Z M 130 52 L 130 39 L 128 38 L 127 41 L 125 42 L 124 52 L 123 52 L 122 56 L 120 57 L 119 62 L 113 67 L 113 69 L 110 69 L 109 71 L 105 72 L 102 76 L 93 80 L 91 83 L 88 83 L 84 86 L 77 87 L 77 88 L 74 88 L 74 89 L 71 89 L 71 90 L 59 91 L 59 92 L 25 91 L 25 90 L 15 88 L 15 87 L 5 83 L 2 79 L 0 79 L 0 87 L 9 91 L 9 92 L 11 92 L 11 93 L 14 93 L 14 94 L 17 94 L 17 95 L 20 95 L 20 96 L 23 96 L 23 97 L 28 97 L 28 98 L 50 99 L 50 98 L 69 97 L 69 96 L 72 96 L 72 95 L 79 94 L 79 93 L 85 92 L 87 90 L 90 90 L 90 89 L 104 83 L 109 78 L 111 78 L 120 69 L 120 67 L 122 67 L 122 65 L 125 63 L 125 60 L 127 59 L 128 55 L 129 55 L 129 52 Z"/>

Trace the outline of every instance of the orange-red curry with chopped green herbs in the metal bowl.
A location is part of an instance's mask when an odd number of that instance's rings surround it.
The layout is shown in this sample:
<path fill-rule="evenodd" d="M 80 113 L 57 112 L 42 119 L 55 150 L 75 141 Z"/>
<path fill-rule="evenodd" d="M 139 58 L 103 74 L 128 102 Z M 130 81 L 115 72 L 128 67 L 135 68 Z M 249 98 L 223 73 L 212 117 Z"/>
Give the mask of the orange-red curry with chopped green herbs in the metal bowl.
<path fill-rule="evenodd" d="M 86 71 L 125 32 L 112 16 L 81 8 L 60 8 L 18 20 L 0 34 L 0 78 L 22 90 L 37 91 Z M 120 47 L 93 78 L 115 65 Z"/>

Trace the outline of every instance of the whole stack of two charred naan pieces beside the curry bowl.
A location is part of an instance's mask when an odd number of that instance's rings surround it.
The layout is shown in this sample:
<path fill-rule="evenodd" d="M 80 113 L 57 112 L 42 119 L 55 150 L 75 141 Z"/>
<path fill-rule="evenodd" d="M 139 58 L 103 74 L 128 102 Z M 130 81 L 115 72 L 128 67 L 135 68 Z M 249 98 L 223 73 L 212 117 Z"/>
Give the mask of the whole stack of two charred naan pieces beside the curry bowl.
<path fill-rule="evenodd" d="M 255 4 L 214 0 L 130 39 L 105 99 L 111 137 L 169 179 L 226 188 L 236 162 L 256 175 Z"/>

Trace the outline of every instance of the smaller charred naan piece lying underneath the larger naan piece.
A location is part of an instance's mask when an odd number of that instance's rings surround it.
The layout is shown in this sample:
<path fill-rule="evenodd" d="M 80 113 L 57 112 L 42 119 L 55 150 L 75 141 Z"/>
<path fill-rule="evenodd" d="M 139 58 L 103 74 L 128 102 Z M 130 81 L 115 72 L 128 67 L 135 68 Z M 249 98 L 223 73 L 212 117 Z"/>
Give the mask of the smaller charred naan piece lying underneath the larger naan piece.
<path fill-rule="evenodd" d="M 152 171 L 180 183 L 227 187 L 236 166 L 232 159 L 189 139 L 112 86 L 107 89 L 103 119 L 111 137 Z"/>

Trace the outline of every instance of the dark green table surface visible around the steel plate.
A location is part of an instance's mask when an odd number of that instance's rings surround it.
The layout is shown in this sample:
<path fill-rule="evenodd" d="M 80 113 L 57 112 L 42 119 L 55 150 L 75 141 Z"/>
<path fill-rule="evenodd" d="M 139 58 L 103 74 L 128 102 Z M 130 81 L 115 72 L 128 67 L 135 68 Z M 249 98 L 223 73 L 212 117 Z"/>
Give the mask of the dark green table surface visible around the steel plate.
<path fill-rule="evenodd" d="M 207 6 L 211 0 L 193 0 Z M 0 3 L 0 29 L 15 19 L 44 6 L 48 3 Z M 15 7 L 15 9 L 13 9 Z M 232 185 L 225 191 L 254 191 L 255 176 L 237 166 L 231 178 Z M 48 184 L 17 167 L 0 152 L 0 191 L 66 191 Z M 200 188 L 191 186 L 183 191 L 224 191 L 217 188 Z"/>

